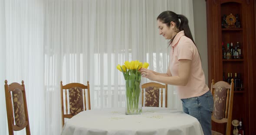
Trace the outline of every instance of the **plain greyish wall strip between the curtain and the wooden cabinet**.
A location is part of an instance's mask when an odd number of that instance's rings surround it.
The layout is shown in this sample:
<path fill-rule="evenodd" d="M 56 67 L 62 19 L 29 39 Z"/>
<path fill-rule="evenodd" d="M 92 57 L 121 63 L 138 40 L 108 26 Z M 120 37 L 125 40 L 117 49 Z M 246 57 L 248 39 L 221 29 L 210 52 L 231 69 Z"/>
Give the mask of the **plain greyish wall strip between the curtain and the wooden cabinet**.
<path fill-rule="evenodd" d="M 193 0 L 195 42 L 201 55 L 205 81 L 208 85 L 207 23 L 205 0 Z M 209 85 L 208 85 L 209 86 Z"/>

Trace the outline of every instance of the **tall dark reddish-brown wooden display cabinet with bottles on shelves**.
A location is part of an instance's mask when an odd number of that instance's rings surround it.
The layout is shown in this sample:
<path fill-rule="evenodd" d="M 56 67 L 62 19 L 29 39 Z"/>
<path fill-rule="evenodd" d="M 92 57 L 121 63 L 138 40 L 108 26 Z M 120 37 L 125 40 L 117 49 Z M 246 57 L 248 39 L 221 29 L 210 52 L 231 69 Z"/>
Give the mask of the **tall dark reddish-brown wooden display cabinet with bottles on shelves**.
<path fill-rule="evenodd" d="M 253 68 L 255 68 L 255 12 L 256 0 L 205 0 L 207 8 L 207 49 L 208 49 L 208 84 L 211 80 L 215 82 L 223 80 L 228 73 L 240 73 L 243 80 L 241 91 L 234 91 L 232 120 L 242 119 L 243 129 L 246 135 L 255 135 L 255 108 L 253 91 Z M 232 13 L 239 14 L 240 28 L 222 28 L 222 16 Z M 239 42 L 241 48 L 241 58 L 223 59 L 222 42 L 226 49 L 227 43 Z M 226 80 L 225 80 L 226 81 Z M 233 135 L 233 126 L 231 126 Z M 225 135 L 226 124 L 212 122 L 212 129 Z"/>

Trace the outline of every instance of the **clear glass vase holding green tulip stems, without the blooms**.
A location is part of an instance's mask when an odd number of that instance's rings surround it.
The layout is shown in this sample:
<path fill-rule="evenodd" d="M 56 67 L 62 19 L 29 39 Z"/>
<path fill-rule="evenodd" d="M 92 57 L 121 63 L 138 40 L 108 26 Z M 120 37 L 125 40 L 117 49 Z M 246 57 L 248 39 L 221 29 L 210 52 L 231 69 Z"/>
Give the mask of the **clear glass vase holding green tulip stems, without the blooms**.
<path fill-rule="evenodd" d="M 125 80 L 125 114 L 141 113 L 141 80 Z"/>

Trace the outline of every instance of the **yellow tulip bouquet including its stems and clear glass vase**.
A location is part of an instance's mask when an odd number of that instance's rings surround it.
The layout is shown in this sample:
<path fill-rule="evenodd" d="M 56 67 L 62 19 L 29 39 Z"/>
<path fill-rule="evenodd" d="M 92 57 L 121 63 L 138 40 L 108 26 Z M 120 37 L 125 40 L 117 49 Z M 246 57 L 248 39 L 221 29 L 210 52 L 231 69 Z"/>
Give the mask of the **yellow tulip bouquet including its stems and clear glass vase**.
<path fill-rule="evenodd" d="M 117 65 L 117 69 L 121 71 L 125 78 L 125 114 L 141 114 L 141 73 L 139 70 L 148 68 L 148 63 L 139 61 L 125 61 L 124 65 Z"/>

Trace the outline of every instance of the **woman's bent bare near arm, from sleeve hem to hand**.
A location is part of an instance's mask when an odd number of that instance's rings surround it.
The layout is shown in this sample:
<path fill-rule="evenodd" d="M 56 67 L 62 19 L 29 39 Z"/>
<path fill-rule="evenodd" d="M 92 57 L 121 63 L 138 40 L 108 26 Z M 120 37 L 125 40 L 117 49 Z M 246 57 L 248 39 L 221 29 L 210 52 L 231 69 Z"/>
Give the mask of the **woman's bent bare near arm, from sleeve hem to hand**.
<path fill-rule="evenodd" d="M 160 83 L 185 86 L 187 85 L 188 79 L 191 74 L 190 67 L 191 67 L 191 60 L 181 59 L 179 60 L 178 76 L 174 76 L 174 77 L 161 76 L 161 75 L 153 74 L 153 72 L 148 72 L 146 69 L 143 69 L 141 71 L 141 74 L 143 74 L 142 77 L 146 77 L 150 80 L 155 80 Z"/>

